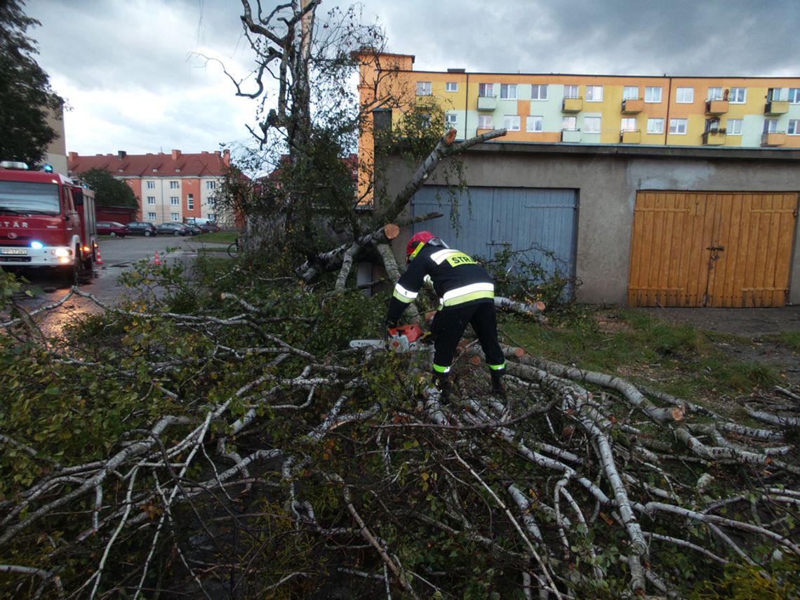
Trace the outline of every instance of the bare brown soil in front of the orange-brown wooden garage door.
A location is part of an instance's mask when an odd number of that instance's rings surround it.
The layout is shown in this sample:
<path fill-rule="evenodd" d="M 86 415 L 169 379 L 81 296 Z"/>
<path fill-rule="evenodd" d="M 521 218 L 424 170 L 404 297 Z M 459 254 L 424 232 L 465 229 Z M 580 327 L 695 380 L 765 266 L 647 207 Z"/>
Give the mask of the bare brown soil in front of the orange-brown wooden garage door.
<path fill-rule="evenodd" d="M 779 308 L 638 308 L 667 322 L 686 323 L 698 330 L 726 334 L 712 338 L 715 346 L 738 360 L 762 362 L 786 375 L 800 387 L 800 354 L 780 344 L 775 336 L 800 331 L 800 306 Z"/>

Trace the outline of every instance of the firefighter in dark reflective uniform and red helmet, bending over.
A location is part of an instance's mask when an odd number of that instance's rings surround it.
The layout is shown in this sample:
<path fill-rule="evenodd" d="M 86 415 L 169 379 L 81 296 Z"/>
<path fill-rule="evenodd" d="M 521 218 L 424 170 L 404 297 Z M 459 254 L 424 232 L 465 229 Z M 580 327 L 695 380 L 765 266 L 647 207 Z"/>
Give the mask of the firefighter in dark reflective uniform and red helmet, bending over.
<path fill-rule="evenodd" d="M 492 379 L 492 391 L 506 397 L 502 386 L 506 361 L 498 343 L 494 313 L 494 283 L 473 258 L 449 248 L 430 231 L 415 234 L 406 246 L 408 268 L 394 286 L 386 325 L 395 326 L 406 307 L 417 298 L 420 287 L 430 282 L 439 298 L 430 325 L 434 336 L 434 383 L 443 402 L 450 397 L 450 365 L 467 325 L 481 342 Z"/>

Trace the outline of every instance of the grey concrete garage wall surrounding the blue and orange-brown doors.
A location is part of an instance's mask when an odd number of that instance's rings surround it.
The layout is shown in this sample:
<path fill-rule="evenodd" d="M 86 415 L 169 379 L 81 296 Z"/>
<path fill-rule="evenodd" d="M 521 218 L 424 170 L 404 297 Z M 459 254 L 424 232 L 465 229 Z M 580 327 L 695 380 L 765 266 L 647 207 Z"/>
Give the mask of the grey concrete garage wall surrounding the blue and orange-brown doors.
<path fill-rule="evenodd" d="M 462 158 L 470 186 L 578 190 L 578 302 L 626 302 L 639 190 L 800 192 L 800 152 L 795 150 L 491 143 Z M 390 194 L 410 178 L 399 159 L 382 168 Z M 434 174 L 426 185 L 442 183 Z M 406 240 L 397 240 L 395 250 Z M 800 302 L 798 246 L 795 241 L 790 303 Z"/>

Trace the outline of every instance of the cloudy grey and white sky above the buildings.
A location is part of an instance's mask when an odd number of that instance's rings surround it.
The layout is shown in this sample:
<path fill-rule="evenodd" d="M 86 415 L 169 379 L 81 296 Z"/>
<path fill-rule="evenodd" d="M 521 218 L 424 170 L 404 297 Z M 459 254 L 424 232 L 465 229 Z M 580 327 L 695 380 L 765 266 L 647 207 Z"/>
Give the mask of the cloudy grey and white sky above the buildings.
<path fill-rule="evenodd" d="M 262 5 L 278 2 L 262 0 Z M 323 0 L 320 12 L 350 2 Z M 240 0 L 25 0 L 79 154 L 246 144 Z M 415 70 L 800 76 L 798 0 L 364 0 Z"/>

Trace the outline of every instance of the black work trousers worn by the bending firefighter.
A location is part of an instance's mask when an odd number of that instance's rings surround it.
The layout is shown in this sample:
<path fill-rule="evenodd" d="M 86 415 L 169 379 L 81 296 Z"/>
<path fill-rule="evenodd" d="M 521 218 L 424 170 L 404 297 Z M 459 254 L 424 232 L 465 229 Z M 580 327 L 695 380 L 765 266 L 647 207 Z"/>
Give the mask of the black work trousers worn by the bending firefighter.
<path fill-rule="evenodd" d="M 434 334 L 434 371 L 447 373 L 453 364 L 458 342 L 461 340 L 466 326 L 471 325 L 481 342 L 486 364 L 492 369 L 502 368 L 506 364 L 500 344 L 498 343 L 498 322 L 494 313 L 494 302 L 481 302 L 463 307 L 451 307 L 439 310 L 430 324 L 430 333 Z"/>

